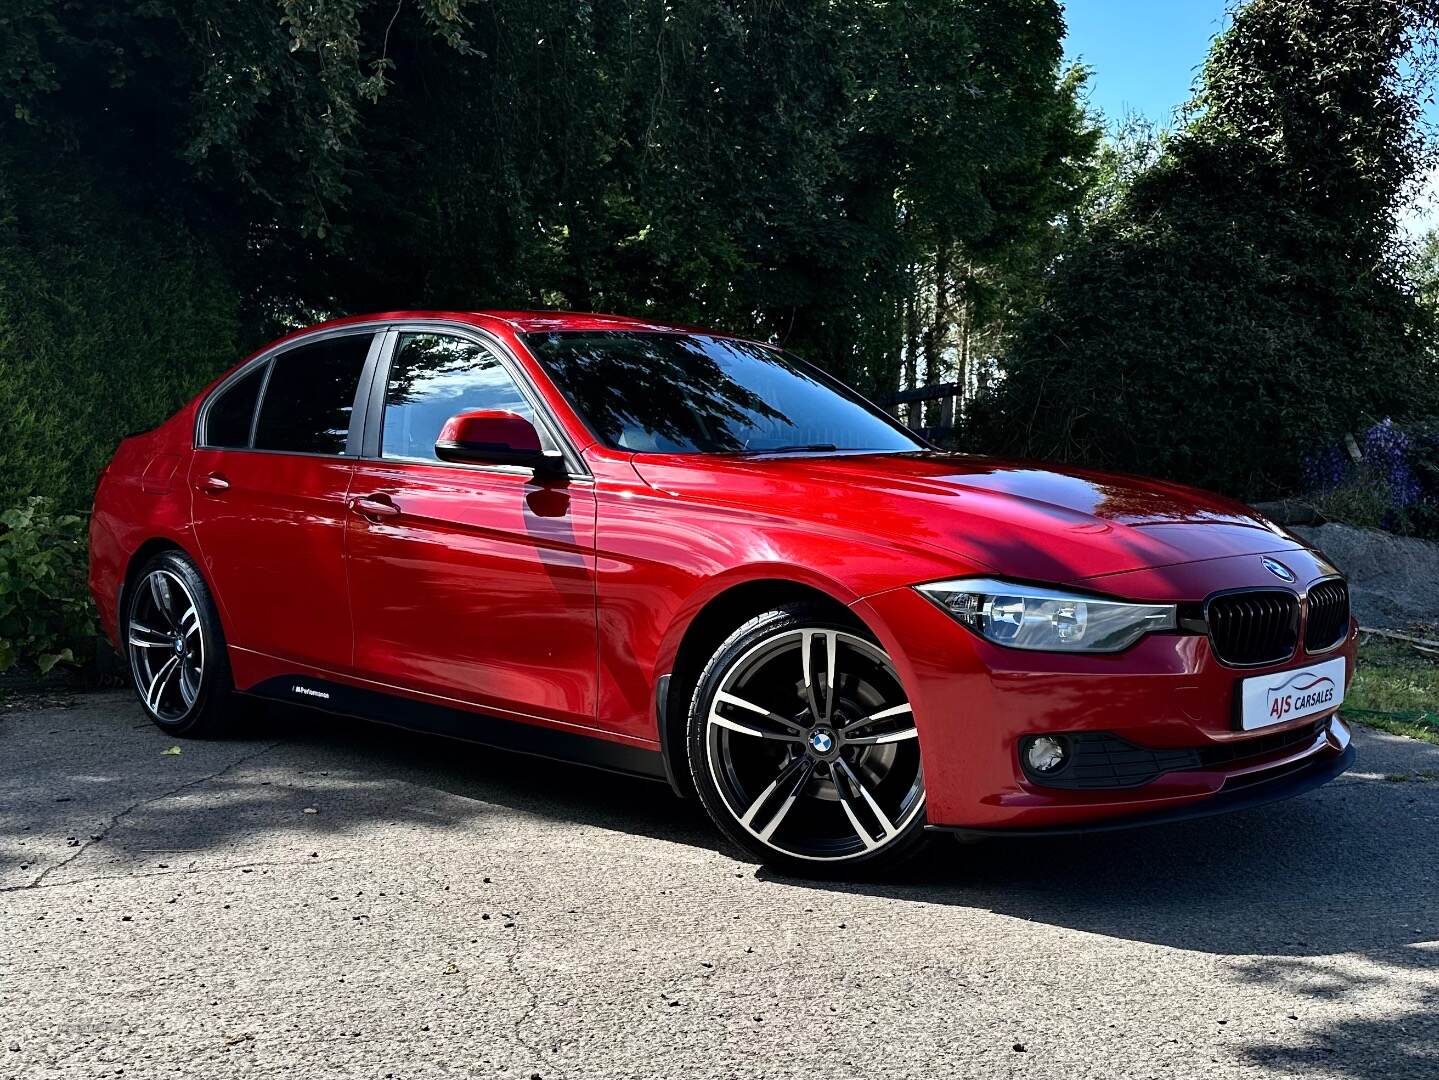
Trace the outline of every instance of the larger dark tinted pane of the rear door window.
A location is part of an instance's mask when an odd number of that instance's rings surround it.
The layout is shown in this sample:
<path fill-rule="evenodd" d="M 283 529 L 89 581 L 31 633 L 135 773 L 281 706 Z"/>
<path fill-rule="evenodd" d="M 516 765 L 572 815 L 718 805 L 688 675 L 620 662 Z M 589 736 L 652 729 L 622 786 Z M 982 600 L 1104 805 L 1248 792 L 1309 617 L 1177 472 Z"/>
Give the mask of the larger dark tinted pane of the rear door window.
<path fill-rule="evenodd" d="M 255 447 L 342 454 L 370 338 L 351 334 L 275 357 Z"/>

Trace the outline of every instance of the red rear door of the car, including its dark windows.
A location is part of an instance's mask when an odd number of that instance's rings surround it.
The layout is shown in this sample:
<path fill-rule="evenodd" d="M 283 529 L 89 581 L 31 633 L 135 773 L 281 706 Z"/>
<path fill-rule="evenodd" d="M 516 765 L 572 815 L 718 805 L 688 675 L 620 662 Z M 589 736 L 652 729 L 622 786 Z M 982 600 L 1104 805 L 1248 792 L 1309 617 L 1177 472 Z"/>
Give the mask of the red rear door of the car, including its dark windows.
<path fill-rule="evenodd" d="M 233 375 L 201 411 L 194 529 L 232 649 L 350 667 L 351 418 L 377 341 L 374 328 L 301 338 Z"/>

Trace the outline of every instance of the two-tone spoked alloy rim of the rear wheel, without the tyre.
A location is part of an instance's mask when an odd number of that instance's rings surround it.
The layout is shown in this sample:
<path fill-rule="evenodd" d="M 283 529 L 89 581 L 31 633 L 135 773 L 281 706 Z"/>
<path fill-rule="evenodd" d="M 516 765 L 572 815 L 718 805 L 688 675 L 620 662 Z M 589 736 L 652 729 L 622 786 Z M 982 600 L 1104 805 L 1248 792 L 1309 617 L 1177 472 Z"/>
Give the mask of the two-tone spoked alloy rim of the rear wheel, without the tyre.
<path fill-rule="evenodd" d="M 155 718 L 181 720 L 194 708 L 204 676 L 200 608 L 168 569 L 150 571 L 132 597 L 127 640 L 140 697 Z"/>

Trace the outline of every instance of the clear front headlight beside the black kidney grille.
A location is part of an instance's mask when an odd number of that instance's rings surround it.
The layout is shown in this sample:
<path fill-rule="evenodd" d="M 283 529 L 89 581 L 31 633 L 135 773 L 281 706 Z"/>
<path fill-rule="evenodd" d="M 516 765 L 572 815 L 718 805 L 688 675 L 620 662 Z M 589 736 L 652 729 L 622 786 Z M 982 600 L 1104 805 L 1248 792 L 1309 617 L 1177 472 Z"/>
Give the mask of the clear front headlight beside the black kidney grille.
<path fill-rule="evenodd" d="M 1174 604 L 1127 604 L 993 578 L 957 578 L 915 588 L 980 637 L 1010 649 L 1118 653 L 1144 634 L 1179 627 Z"/>

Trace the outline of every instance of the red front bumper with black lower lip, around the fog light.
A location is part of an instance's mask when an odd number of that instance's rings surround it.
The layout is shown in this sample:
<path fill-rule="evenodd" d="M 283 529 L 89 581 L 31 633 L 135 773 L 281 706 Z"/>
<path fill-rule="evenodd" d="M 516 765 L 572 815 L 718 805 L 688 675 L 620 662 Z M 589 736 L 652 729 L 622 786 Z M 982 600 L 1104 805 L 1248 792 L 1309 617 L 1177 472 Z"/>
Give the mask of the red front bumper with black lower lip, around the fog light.
<path fill-rule="evenodd" d="M 1354 756 L 1338 716 L 1248 732 L 1235 723 L 1245 677 L 1344 656 L 1353 679 L 1353 628 L 1324 657 L 1301 650 L 1286 663 L 1240 670 L 1220 664 L 1197 634 L 1153 634 L 1111 656 L 1025 653 L 979 639 L 909 588 L 853 607 L 909 693 L 931 827 L 1068 833 L 1216 814 L 1322 784 Z M 1020 768 L 1019 741 L 1046 732 L 1109 732 L 1156 751 L 1199 751 L 1181 756 L 1202 764 L 1134 787 L 1043 787 Z"/>

